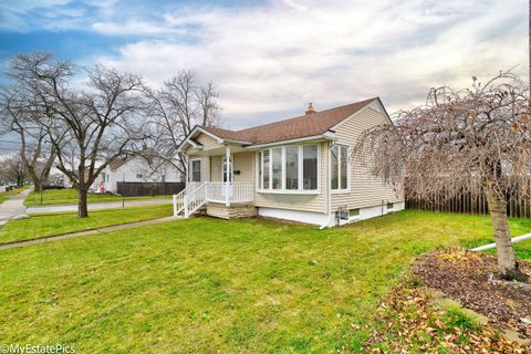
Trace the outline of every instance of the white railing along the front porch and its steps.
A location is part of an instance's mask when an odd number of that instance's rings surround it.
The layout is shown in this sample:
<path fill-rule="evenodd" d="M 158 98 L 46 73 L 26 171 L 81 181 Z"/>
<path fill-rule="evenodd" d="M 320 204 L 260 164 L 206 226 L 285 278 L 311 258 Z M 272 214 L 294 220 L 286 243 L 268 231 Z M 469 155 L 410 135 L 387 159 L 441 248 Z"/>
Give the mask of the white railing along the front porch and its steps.
<path fill-rule="evenodd" d="M 178 195 L 174 195 L 174 216 L 184 214 L 188 218 L 206 202 L 253 201 L 253 185 L 248 183 L 226 184 L 222 181 L 190 183 Z"/>

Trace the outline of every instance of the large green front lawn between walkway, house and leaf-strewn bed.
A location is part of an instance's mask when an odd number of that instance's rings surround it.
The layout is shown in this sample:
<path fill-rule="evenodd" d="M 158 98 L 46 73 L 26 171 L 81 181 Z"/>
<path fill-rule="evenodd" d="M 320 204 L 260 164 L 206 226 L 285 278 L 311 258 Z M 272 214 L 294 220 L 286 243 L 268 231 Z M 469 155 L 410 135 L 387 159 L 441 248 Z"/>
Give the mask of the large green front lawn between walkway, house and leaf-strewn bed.
<path fill-rule="evenodd" d="M 77 353 L 355 348 L 415 256 L 490 232 L 486 217 L 421 211 L 323 231 L 195 218 L 8 249 L 0 339 Z"/>

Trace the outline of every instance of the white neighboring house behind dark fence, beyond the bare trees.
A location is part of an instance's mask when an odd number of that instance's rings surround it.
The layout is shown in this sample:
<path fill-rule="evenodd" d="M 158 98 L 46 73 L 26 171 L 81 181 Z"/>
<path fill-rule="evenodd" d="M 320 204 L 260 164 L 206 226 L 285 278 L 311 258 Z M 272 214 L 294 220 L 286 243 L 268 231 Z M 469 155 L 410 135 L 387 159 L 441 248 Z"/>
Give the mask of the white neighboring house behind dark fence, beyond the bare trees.
<path fill-rule="evenodd" d="M 92 185 L 96 192 L 117 192 L 119 181 L 163 183 L 180 181 L 175 167 L 162 165 L 155 170 L 142 156 L 128 156 L 111 162 Z"/>

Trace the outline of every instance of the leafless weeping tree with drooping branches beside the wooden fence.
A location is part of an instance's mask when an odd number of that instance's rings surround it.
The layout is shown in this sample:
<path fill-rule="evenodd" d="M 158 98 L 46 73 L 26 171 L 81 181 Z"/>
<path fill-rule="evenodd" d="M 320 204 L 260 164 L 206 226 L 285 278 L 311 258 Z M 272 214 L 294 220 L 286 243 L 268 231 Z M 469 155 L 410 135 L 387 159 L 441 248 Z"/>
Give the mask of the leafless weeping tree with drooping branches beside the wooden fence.
<path fill-rule="evenodd" d="M 507 216 L 512 195 L 531 197 L 531 118 L 528 86 L 510 72 L 470 88 L 431 88 L 426 104 L 400 111 L 394 126 L 362 134 L 355 155 L 410 199 L 485 192 L 501 278 L 519 270 Z M 374 158 L 366 158 L 372 156 Z"/>

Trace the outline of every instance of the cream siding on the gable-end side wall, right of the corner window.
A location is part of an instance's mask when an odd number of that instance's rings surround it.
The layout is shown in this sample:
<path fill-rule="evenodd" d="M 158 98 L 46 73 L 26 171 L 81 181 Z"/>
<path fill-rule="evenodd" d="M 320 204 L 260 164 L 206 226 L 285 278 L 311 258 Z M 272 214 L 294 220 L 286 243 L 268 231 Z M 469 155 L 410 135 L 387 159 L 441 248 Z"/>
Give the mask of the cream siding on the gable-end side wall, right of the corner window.
<path fill-rule="evenodd" d="M 388 123 L 388 119 L 383 113 L 367 106 L 340 123 L 334 131 L 339 143 L 348 144 L 352 153 L 352 147 L 365 129 L 385 123 Z M 382 201 L 404 201 L 402 194 L 397 194 L 391 185 L 374 176 L 369 167 L 363 166 L 358 159 L 351 160 L 350 173 L 351 190 L 347 194 L 332 194 L 332 211 L 342 206 L 353 209 L 381 206 Z"/>

